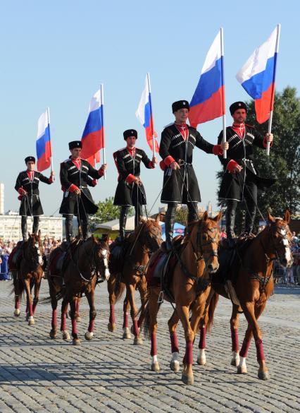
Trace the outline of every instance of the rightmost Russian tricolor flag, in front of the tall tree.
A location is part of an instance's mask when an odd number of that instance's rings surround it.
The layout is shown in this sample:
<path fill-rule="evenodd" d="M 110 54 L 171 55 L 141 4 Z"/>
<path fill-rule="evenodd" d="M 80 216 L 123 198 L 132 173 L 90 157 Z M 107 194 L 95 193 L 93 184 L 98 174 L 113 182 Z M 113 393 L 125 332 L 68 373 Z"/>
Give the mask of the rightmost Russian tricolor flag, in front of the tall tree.
<path fill-rule="evenodd" d="M 279 35 L 280 25 L 277 25 L 237 73 L 237 80 L 255 100 L 256 119 L 260 124 L 269 119 L 273 110 Z"/>

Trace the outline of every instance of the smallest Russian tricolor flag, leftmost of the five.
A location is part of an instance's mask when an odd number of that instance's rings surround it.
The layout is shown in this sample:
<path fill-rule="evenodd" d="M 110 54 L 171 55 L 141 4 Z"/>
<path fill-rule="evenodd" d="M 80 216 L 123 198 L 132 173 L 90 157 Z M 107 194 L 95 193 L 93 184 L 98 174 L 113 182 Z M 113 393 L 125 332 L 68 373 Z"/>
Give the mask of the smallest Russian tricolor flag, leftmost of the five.
<path fill-rule="evenodd" d="M 37 122 L 37 170 L 39 172 L 48 169 L 51 165 L 51 138 L 49 109 L 46 110 Z"/>

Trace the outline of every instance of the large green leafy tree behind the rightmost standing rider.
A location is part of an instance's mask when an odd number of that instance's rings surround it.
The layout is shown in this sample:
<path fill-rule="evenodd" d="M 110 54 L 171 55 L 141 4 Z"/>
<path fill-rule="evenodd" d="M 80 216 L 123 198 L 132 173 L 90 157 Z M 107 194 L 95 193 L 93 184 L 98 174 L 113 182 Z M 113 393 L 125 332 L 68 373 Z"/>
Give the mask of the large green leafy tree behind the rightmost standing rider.
<path fill-rule="evenodd" d="M 248 124 L 256 126 L 262 134 L 268 131 L 268 122 L 256 122 L 254 101 L 246 102 L 248 107 Z M 265 150 L 254 146 L 256 169 L 259 175 L 276 176 L 277 182 L 258 195 L 258 208 L 265 217 L 269 210 L 275 216 L 283 216 L 286 208 L 292 214 L 300 208 L 300 98 L 296 96 L 296 88 L 287 86 L 282 92 L 275 93 L 272 133 L 273 146 L 270 157 Z M 220 179 L 223 171 L 218 172 Z M 222 203 L 219 203 L 222 205 Z M 261 219 L 256 215 L 256 224 Z M 242 222 L 242 213 L 237 213 L 237 224 Z M 238 225 L 238 226 L 239 226 Z"/>

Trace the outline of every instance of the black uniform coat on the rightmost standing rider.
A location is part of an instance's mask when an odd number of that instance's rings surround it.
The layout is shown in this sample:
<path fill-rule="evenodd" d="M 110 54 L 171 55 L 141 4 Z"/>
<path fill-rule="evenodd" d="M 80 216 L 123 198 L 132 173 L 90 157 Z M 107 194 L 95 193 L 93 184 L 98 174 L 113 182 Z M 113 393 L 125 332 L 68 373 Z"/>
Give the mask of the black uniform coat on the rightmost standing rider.
<path fill-rule="evenodd" d="M 223 140 L 223 131 L 218 136 L 218 143 Z M 263 136 L 252 126 L 245 125 L 245 135 L 241 139 L 231 126 L 226 128 L 226 140 L 229 143 L 227 159 L 219 156 L 220 162 L 224 167 L 223 179 L 220 185 L 219 198 L 243 200 L 243 191 L 248 191 L 250 183 L 256 184 L 258 188 L 266 188 L 275 182 L 275 179 L 265 179 L 258 176 L 254 167 L 253 145 L 265 148 Z M 242 172 L 231 174 L 227 169 L 230 160 L 235 160 L 241 167 Z M 250 196 L 254 196 L 252 185 L 249 186 Z M 254 199 L 256 201 L 256 199 Z"/>

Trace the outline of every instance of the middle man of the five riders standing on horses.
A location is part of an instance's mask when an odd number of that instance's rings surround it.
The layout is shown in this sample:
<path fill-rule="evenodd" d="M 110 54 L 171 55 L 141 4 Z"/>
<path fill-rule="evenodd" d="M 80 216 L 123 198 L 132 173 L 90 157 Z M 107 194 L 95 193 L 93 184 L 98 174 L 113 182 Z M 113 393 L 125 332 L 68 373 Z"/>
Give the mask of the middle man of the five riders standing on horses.
<path fill-rule="evenodd" d="M 140 164 L 144 163 L 146 168 L 153 169 L 157 163 L 154 156 L 149 160 L 144 150 L 135 147 L 137 131 L 127 129 L 123 133 L 126 140 L 126 148 L 120 149 L 113 154 L 113 159 L 118 169 L 118 186 L 115 191 L 113 204 L 120 206 L 120 239 L 125 237 L 127 213 L 130 206 L 135 207 L 135 227 L 137 227 L 142 216 L 142 205 L 146 205 L 146 193 L 139 177 Z"/>

